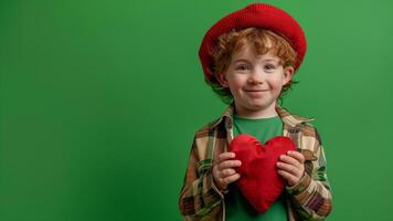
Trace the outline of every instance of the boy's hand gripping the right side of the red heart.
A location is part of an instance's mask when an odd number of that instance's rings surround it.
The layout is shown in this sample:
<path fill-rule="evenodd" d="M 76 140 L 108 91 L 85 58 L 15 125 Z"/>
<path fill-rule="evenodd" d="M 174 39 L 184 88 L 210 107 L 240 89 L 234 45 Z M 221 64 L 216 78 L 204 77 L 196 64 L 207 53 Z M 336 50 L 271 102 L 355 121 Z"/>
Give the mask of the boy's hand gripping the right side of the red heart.
<path fill-rule="evenodd" d="M 277 169 L 278 175 L 287 181 L 289 187 L 293 187 L 305 173 L 305 157 L 298 151 L 289 150 L 287 155 L 279 156 Z"/>

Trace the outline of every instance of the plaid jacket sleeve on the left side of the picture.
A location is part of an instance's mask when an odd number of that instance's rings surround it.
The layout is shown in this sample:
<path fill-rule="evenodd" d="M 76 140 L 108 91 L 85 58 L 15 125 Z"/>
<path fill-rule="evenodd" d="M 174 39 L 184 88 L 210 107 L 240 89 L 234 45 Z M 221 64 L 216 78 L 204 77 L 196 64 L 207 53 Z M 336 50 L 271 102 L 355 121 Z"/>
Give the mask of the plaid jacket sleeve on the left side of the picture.
<path fill-rule="evenodd" d="M 179 209 L 185 220 L 210 220 L 209 217 L 216 217 L 220 212 L 217 206 L 223 199 L 213 182 L 212 159 L 200 158 L 194 138 L 179 197 Z"/>

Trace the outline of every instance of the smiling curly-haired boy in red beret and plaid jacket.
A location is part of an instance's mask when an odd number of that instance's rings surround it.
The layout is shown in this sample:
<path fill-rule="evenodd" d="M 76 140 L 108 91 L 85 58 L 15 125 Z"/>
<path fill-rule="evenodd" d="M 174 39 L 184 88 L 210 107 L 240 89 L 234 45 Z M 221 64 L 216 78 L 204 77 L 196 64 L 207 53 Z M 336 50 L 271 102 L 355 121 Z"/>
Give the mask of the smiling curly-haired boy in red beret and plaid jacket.
<path fill-rule="evenodd" d="M 197 131 L 179 207 L 187 220 L 323 220 L 331 211 L 326 158 L 314 126 L 277 105 L 301 64 L 306 39 L 285 11 L 254 3 L 216 22 L 205 34 L 200 59 L 205 82 L 231 104 Z M 229 150 L 238 134 L 262 144 L 289 137 L 298 151 L 277 161 L 285 191 L 265 213 L 235 185 L 242 161 Z M 263 191 L 263 190 L 262 190 Z"/>

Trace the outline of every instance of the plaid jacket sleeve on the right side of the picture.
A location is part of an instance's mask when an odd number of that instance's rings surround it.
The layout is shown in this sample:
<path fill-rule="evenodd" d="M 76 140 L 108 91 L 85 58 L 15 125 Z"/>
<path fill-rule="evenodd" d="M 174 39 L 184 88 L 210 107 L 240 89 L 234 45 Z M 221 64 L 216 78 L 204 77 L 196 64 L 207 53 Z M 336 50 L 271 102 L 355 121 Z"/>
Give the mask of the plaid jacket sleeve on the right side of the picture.
<path fill-rule="evenodd" d="M 315 137 L 314 151 L 304 152 L 304 177 L 296 186 L 287 187 L 294 211 L 300 220 L 325 220 L 332 209 L 326 157 L 317 130 Z"/>

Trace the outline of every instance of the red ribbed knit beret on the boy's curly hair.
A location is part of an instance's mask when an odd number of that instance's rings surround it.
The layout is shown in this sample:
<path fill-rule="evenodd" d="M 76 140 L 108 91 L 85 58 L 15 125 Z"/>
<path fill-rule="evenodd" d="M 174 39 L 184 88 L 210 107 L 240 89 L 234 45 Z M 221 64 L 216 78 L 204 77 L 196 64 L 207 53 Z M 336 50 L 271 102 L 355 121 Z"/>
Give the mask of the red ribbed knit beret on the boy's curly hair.
<path fill-rule="evenodd" d="M 204 35 L 199 56 L 206 81 L 211 82 L 214 77 L 213 57 L 210 53 L 214 49 L 217 38 L 233 29 L 240 30 L 251 27 L 270 30 L 286 39 L 296 51 L 295 71 L 300 66 L 307 49 L 306 36 L 301 27 L 282 9 L 265 3 L 253 3 L 222 18 Z"/>

